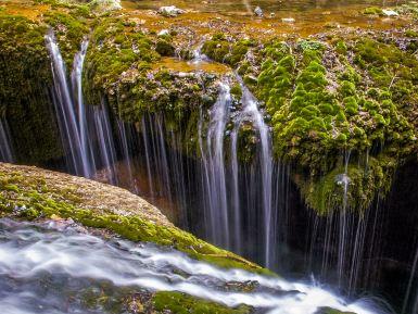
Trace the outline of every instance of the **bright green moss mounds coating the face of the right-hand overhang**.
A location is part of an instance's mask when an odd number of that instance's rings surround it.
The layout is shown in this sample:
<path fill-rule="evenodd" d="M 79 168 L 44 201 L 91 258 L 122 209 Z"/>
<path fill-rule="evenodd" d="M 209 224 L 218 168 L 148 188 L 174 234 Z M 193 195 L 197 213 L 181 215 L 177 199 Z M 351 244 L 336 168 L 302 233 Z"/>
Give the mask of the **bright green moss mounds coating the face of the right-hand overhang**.
<path fill-rule="evenodd" d="M 342 205 L 342 198 L 335 197 L 341 190 L 334 183 L 342 172 L 337 166 L 341 151 L 360 154 L 384 141 L 384 159 L 397 164 L 416 148 L 413 109 L 406 112 L 401 102 L 416 102 L 415 88 L 406 84 L 416 80 L 415 58 L 373 39 L 364 38 L 355 45 L 342 39 L 334 42 L 333 47 L 312 40 L 301 40 L 295 47 L 267 43 L 259 53 L 264 62 L 253 89 L 271 115 L 275 153 L 296 164 L 307 204 L 322 214 Z M 349 60 L 349 54 L 354 59 Z M 329 55 L 338 56 L 335 68 L 330 67 Z M 359 212 L 379 192 L 384 193 L 391 181 L 393 169 L 380 165 L 382 156 L 371 159 L 379 161 L 373 172 L 366 175 L 352 168 L 353 185 L 358 188 L 351 190 L 351 200 L 362 201 L 350 205 Z M 376 175 L 382 168 L 384 180 Z M 369 185 L 368 191 L 362 180 Z"/>

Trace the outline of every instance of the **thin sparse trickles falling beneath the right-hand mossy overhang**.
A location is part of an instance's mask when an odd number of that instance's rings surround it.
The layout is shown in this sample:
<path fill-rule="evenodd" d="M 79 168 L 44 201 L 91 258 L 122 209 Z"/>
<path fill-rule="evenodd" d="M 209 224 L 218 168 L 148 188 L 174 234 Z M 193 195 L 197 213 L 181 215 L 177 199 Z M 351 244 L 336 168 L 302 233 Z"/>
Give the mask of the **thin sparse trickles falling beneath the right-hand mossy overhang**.
<path fill-rule="evenodd" d="M 379 274 L 373 269 L 379 268 L 376 258 L 382 248 L 383 219 L 379 197 L 363 213 L 350 209 L 349 159 L 350 152 L 344 158 L 344 173 L 335 176 L 335 184 L 342 186 L 341 208 L 329 209 L 327 216 L 311 213 L 306 269 L 318 274 L 321 280 L 338 282 L 345 293 L 353 294 L 359 287 L 372 289 L 378 280 Z"/>

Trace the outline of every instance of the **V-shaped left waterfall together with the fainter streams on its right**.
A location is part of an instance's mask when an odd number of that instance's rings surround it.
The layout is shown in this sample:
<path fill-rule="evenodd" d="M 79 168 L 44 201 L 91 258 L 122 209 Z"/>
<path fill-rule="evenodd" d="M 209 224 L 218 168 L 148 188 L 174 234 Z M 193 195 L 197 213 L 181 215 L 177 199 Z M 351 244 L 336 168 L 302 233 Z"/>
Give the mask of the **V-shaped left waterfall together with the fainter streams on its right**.
<path fill-rule="evenodd" d="M 53 33 L 46 36 L 46 41 L 52 61 L 53 100 L 68 169 L 90 178 L 103 168 L 107 181 L 116 185 L 117 155 L 107 108 L 104 100 L 98 105 L 86 105 L 84 101 L 83 68 L 89 42 L 84 40 L 74 58 L 69 84 Z M 127 153 L 127 142 L 122 142 L 122 149 Z"/>

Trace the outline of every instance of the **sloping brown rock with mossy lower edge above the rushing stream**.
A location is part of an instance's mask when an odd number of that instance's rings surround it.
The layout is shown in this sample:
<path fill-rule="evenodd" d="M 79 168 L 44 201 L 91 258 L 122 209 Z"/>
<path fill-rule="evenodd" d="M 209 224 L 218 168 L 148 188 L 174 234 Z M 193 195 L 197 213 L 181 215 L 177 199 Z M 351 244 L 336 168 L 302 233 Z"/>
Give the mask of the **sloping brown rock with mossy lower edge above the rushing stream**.
<path fill-rule="evenodd" d="M 219 267 L 268 269 L 176 228 L 153 205 L 130 192 L 66 174 L 0 163 L 0 213 L 25 219 L 72 218 L 131 241 L 169 246 Z"/>

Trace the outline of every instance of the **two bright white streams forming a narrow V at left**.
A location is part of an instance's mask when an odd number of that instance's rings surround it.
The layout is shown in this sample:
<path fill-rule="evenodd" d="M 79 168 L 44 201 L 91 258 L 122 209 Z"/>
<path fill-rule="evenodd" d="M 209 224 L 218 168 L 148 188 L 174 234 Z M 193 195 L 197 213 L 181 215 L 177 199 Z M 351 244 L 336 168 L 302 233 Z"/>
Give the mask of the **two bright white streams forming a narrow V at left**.
<path fill-rule="evenodd" d="M 71 172 L 76 175 L 90 177 L 92 174 L 92 162 L 87 149 L 87 135 L 85 129 L 84 103 L 81 92 L 83 62 L 87 51 L 87 43 L 81 45 L 81 51 L 77 53 L 74 63 L 74 80 L 76 84 L 76 97 L 73 97 L 72 88 L 67 80 L 64 60 L 56 43 L 53 33 L 46 35 L 47 48 L 51 56 L 53 75 L 53 102 L 58 115 L 61 140 L 67 158 Z M 77 116 L 74 99 L 78 101 L 79 115 Z M 81 134 L 83 129 L 83 134 Z"/>

